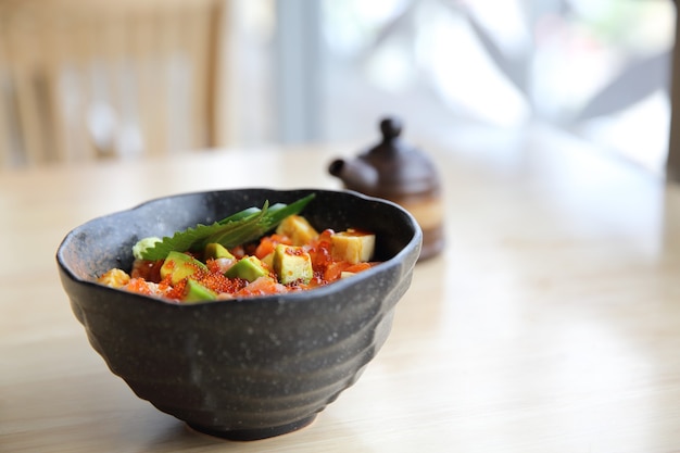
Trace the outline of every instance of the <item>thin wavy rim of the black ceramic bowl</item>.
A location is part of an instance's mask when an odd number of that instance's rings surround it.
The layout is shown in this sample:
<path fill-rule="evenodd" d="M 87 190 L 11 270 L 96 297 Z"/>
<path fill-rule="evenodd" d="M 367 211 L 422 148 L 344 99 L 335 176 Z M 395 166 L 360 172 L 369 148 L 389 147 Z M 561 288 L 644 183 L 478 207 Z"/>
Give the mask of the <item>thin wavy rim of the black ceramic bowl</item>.
<path fill-rule="evenodd" d="M 344 194 L 349 194 L 355 198 L 363 199 L 365 201 L 388 204 L 396 209 L 398 211 L 401 211 L 402 214 L 405 215 L 406 218 L 408 218 L 414 232 L 413 232 L 412 238 L 408 240 L 408 242 L 393 256 L 391 256 L 390 259 L 386 261 L 380 262 L 379 264 L 370 267 L 369 269 L 366 269 L 360 274 L 356 274 L 355 276 L 349 279 L 335 281 L 331 285 L 325 285 L 322 287 L 317 287 L 317 288 L 313 288 L 313 289 L 308 289 L 304 291 L 286 292 L 286 293 L 278 293 L 278 294 L 249 295 L 249 297 L 239 297 L 239 298 L 234 298 L 234 299 L 225 299 L 225 300 L 216 300 L 216 301 L 206 300 L 206 301 L 199 301 L 199 302 L 193 302 L 189 304 L 177 303 L 177 302 L 169 301 L 169 300 L 155 297 L 155 295 L 141 294 L 141 293 L 136 293 L 131 291 L 123 291 L 117 288 L 111 288 L 105 285 L 98 284 L 97 281 L 91 280 L 91 279 L 80 278 L 73 270 L 72 266 L 68 265 L 68 261 L 64 256 L 64 252 L 68 242 L 73 240 L 73 238 L 77 236 L 86 226 L 91 225 L 93 223 L 102 222 L 105 218 L 114 217 L 119 214 L 143 210 L 148 205 L 151 205 L 161 201 L 166 201 L 168 199 L 192 197 L 192 196 L 204 196 L 204 194 L 217 193 L 217 192 L 238 192 L 238 191 L 243 191 L 243 190 L 249 190 L 249 191 L 263 190 L 263 191 L 273 191 L 273 192 L 344 193 Z M 60 242 L 56 249 L 55 259 L 56 259 L 56 263 L 58 263 L 58 266 L 62 276 L 66 277 L 68 280 L 77 285 L 91 287 L 91 288 L 97 289 L 98 291 L 104 291 L 104 292 L 113 291 L 116 294 L 121 294 L 122 292 L 125 292 L 126 295 L 129 295 L 133 299 L 139 299 L 140 301 L 146 301 L 144 303 L 161 303 L 167 306 L 174 306 L 177 310 L 191 310 L 196 307 L 219 306 L 224 304 L 234 304 L 234 303 L 249 303 L 249 304 L 253 304 L 253 303 L 264 304 L 264 303 L 272 303 L 272 302 L 279 303 L 279 302 L 282 302 L 284 300 L 290 301 L 290 303 L 293 303 L 294 301 L 302 301 L 302 300 L 310 299 L 310 294 L 318 295 L 319 298 L 322 298 L 329 293 L 340 292 L 344 288 L 356 286 L 366 279 L 373 278 L 374 276 L 378 274 L 382 274 L 392 267 L 401 265 L 401 263 L 404 261 L 404 257 L 410 253 L 414 253 L 416 255 L 416 259 L 414 260 L 414 263 L 413 263 L 413 265 L 415 265 L 417 261 L 417 255 L 419 254 L 419 250 L 421 246 L 423 246 L 423 230 L 420 226 L 418 225 L 418 222 L 416 221 L 416 218 L 413 216 L 413 214 L 406 211 L 403 206 L 387 199 L 368 196 L 368 194 L 365 194 L 355 190 L 350 190 L 350 189 L 332 190 L 332 189 L 307 188 L 307 187 L 291 188 L 291 189 L 276 189 L 276 188 L 268 188 L 268 187 L 241 187 L 241 188 L 227 188 L 227 189 L 196 190 L 196 191 L 177 192 L 177 193 L 171 193 L 171 194 L 161 196 L 161 197 L 154 197 L 141 203 L 133 205 L 131 207 L 96 216 L 74 227 L 66 234 L 66 236 L 62 239 L 62 241 Z M 417 249 L 417 250 L 414 251 L 414 249 Z"/>

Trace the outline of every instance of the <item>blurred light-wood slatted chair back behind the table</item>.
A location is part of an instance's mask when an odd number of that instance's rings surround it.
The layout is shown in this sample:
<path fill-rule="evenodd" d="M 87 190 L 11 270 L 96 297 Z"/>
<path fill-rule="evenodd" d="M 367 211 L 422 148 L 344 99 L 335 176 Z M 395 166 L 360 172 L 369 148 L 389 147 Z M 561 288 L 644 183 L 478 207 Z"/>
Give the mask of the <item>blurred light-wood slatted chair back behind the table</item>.
<path fill-rule="evenodd" d="M 0 0 L 0 167 L 215 143 L 223 0 Z"/>

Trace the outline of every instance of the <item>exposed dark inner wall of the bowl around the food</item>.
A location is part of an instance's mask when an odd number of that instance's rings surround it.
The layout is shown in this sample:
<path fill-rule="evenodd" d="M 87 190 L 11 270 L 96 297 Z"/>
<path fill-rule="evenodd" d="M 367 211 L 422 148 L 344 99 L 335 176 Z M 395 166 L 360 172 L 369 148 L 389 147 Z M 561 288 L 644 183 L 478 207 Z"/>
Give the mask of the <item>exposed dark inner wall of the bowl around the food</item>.
<path fill-rule="evenodd" d="M 198 223 L 211 224 L 265 201 L 291 203 L 311 192 L 316 197 L 303 215 L 319 231 L 362 228 L 376 234 L 376 261 L 387 262 L 419 247 L 415 219 L 398 205 L 351 191 L 316 189 L 239 189 L 171 196 L 135 209 L 96 218 L 75 228 L 58 250 L 60 267 L 70 277 L 92 281 L 103 272 L 129 269 L 131 248 L 141 238 L 172 236 Z"/>

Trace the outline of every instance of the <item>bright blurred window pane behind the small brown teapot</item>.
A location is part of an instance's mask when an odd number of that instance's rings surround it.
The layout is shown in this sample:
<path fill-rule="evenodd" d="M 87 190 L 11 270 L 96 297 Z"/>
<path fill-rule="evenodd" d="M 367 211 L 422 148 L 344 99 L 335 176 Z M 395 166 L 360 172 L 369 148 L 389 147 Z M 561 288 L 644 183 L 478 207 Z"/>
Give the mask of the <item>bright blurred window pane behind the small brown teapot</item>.
<path fill-rule="evenodd" d="M 386 112 L 435 140 L 539 122 L 660 171 L 675 18 L 670 0 L 324 0 L 323 135 Z"/>

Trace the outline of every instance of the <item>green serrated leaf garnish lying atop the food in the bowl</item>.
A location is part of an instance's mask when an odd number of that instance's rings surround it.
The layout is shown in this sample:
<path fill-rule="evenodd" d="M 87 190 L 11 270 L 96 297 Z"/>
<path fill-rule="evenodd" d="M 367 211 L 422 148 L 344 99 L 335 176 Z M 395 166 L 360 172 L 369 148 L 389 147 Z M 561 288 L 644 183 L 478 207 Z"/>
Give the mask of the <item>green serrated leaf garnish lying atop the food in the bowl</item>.
<path fill-rule="evenodd" d="M 311 193 L 293 203 L 277 203 L 272 206 L 265 201 L 262 209 L 249 207 L 212 225 L 198 224 L 196 227 L 177 231 L 172 237 L 166 236 L 152 243 L 152 247 L 143 248 L 139 252 L 140 256 L 143 260 L 164 260 L 172 251 L 202 250 L 210 242 L 231 248 L 260 239 L 276 228 L 284 218 L 300 213 L 314 196 Z"/>

